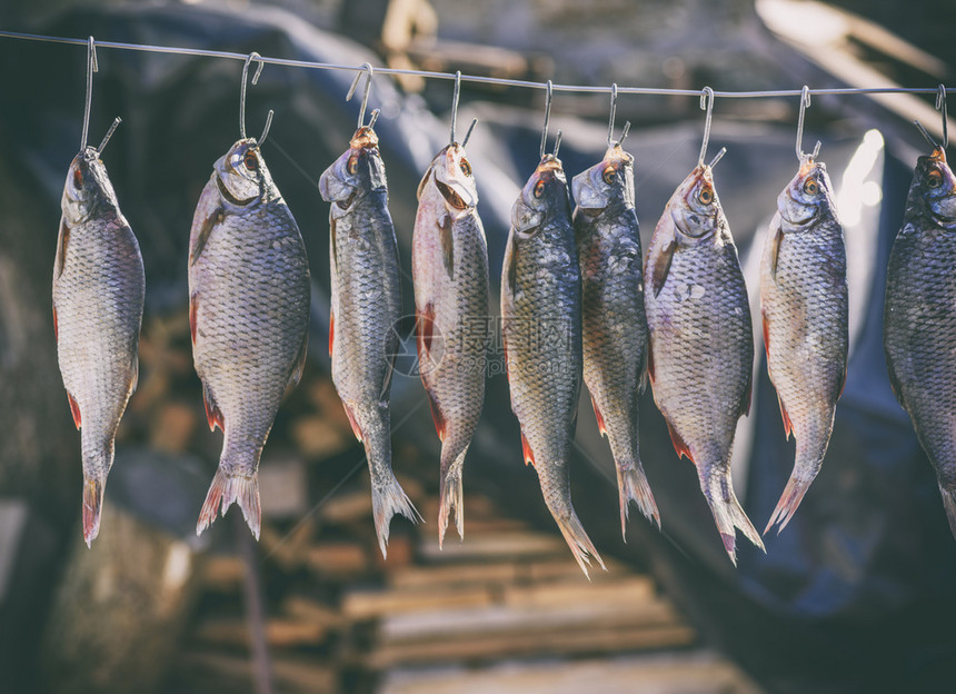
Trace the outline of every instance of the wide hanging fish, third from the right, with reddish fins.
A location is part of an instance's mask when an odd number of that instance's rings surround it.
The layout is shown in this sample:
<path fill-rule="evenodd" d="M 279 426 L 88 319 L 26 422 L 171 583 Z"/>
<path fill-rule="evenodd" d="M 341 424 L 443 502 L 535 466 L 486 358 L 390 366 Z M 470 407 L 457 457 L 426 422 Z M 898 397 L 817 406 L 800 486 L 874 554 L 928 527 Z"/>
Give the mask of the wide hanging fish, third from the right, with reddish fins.
<path fill-rule="evenodd" d="M 719 158 L 719 155 L 718 155 Z M 700 163 L 670 197 L 644 276 L 648 375 L 677 454 L 697 466 L 724 548 L 736 564 L 740 528 L 764 548 L 730 480 L 737 419 L 750 409 L 754 335 L 737 248 Z"/>

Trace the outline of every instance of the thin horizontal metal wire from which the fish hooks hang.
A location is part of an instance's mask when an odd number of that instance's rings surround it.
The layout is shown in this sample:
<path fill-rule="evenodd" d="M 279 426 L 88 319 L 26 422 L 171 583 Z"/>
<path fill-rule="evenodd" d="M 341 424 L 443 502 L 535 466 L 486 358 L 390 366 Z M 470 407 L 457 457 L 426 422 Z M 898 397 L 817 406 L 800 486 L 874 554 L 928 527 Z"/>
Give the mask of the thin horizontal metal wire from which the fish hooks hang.
<path fill-rule="evenodd" d="M 89 44 L 89 39 L 70 39 L 64 37 L 50 37 L 37 33 L 21 33 L 18 31 L 0 30 L 0 37 L 8 39 L 23 39 L 28 41 L 43 41 L 48 43 L 68 43 L 72 46 L 82 46 L 86 48 Z M 237 53 L 232 51 L 207 50 L 200 48 L 177 48 L 171 46 L 149 46 L 143 43 L 121 43 L 118 41 L 94 41 L 97 48 L 113 48 L 117 50 L 145 51 L 151 53 L 171 53 L 176 56 L 205 56 L 209 58 L 228 58 L 230 60 L 245 61 L 248 56 L 246 53 Z M 269 65 L 286 66 L 290 68 L 308 68 L 315 70 L 346 70 L 351 72 L 365 72 L 362 66 L 346 66 L 331 62 L 313 62 L 309 60 L 291 60 L 288 58 L 270 58 L 268 56 L 256 57 L 257 61 L 267 62 Z M 455 80 L 456 75 L 452 72 L 435 72 L 430 70 L 406 70 L 400 68 L 375 68 L 378 75 L 415 75 L 431 79 Z M 500 77 L 484 77 L 479 75 L 462 75 L 462 82 L 479 82 L 485 85 L 498 85 L 501 87 L 522 87 L 526 89 L 547 89 L 545 82 L 534 82 L 529 80 L 512 80 Z M 610 93 L 613 87 L 594 87 L 584 85 L 551 85 L 554 91 L 578 92 L 578 93 Z M 946 87 L 946 91 L 950 91 L 950 87 Z M 697 89 L 664 89 L 656 87 L 618 87 L 617 92 L 633 95 L 656 95 L 656 96 L 673 96 L 673 97 L 699 97 L 701 90 Z M 823 95 L 876 95 L 876 93 L 925 93 L 934 95 L 938 92 L 938 87 L 926 88 L 908 88 L 908 87 L 872 87 L 872 88 L 830 88 L 830 89 L 810 89 L 809 93 L 814 96 Z M 714 91 L 715 97 L 725 99 L 759 99 L 767 97 L 799 97 L 803 95 L 801 89 L 778 89 L 771 91 Z"/>

